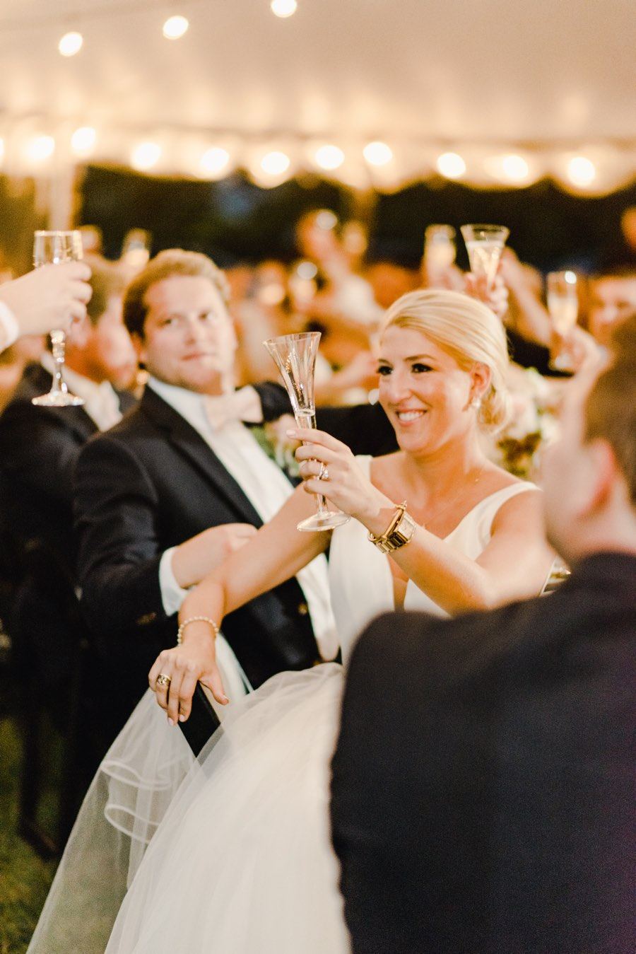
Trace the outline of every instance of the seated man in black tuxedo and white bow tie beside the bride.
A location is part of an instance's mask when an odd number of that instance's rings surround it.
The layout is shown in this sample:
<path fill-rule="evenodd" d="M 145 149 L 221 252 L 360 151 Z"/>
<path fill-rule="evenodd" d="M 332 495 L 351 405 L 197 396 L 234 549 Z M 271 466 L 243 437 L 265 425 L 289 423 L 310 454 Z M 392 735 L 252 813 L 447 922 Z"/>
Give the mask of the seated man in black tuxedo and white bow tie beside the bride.
<path fill-rule="evenodd" d="M 129 286 L 124 317 L 149 382 L 138 408 L 84 448 L 75 481 L 82 607 L 112 687 L 113 727 L 174 645 L 187 588 L 292 492 L 248 428 L 216 417 L 217 400 L 233 393 L 236 338 L 215 264 L 160 253 Z M 266 417 L 289 406 L 277 385 L 258 385 L 258 396 Z M 230 613 L 223 633 L 253 687 L 333 658 L 324 558 Z"/>

